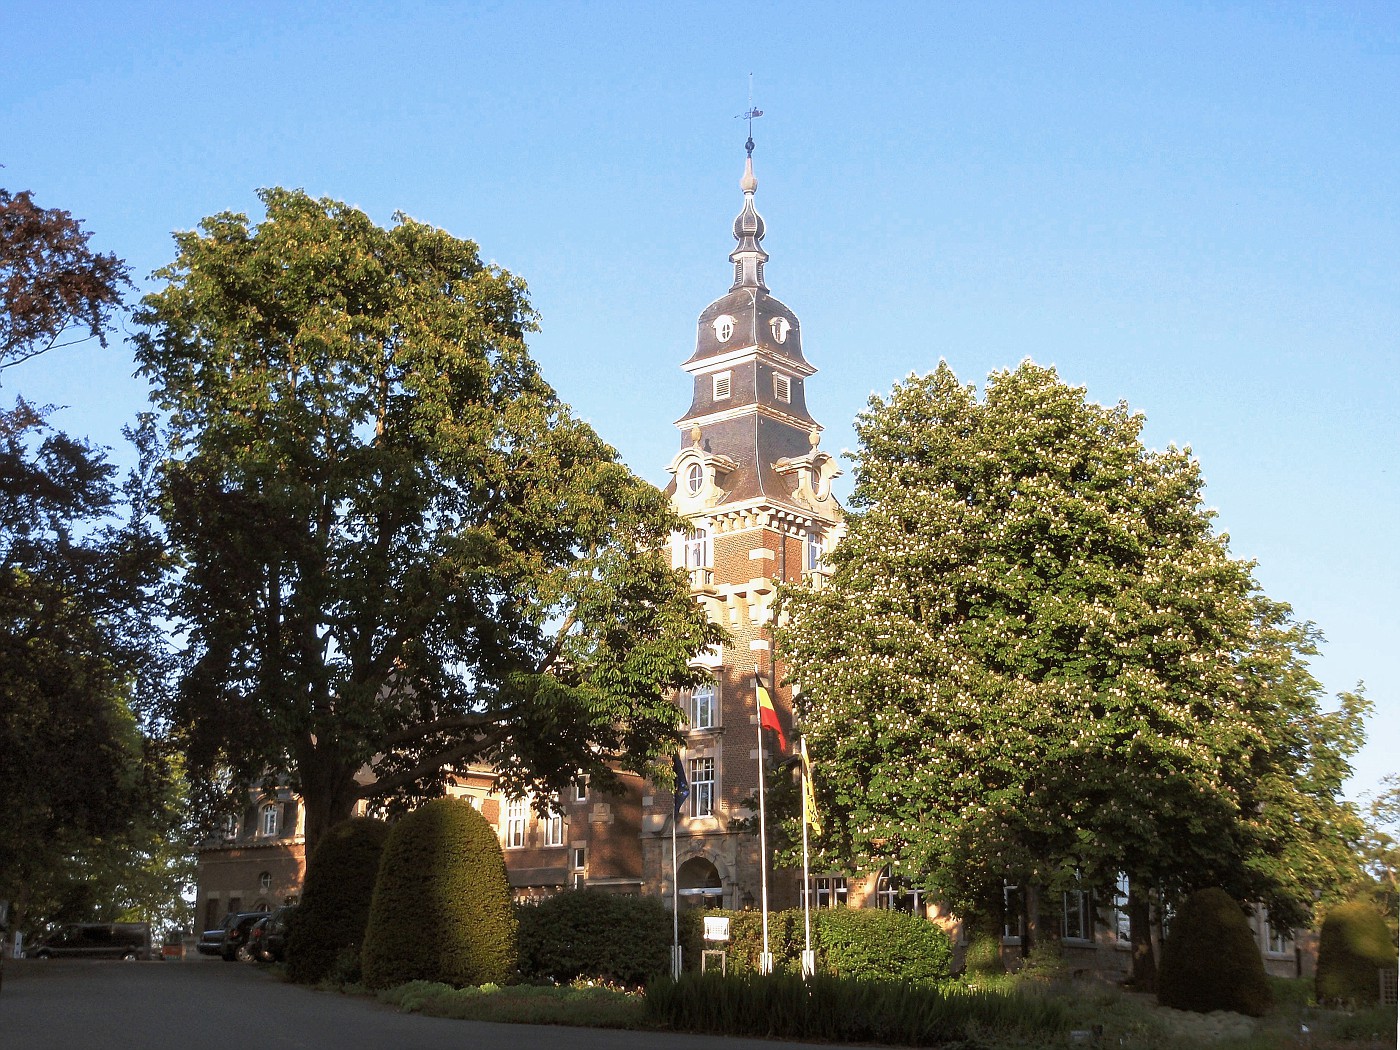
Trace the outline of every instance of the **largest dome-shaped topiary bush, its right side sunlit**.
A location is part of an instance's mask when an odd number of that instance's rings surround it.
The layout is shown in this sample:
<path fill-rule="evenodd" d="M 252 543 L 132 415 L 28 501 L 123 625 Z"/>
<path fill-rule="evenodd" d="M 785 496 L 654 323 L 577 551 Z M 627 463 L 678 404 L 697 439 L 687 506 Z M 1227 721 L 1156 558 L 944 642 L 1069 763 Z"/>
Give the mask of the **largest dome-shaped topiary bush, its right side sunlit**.
<path fill-rule="evenodd" d="M 393 825 L 361 951 L 365 984 L 504 983 L 515 935 L 501 846 L 469 802 L 437 798 Z"/>

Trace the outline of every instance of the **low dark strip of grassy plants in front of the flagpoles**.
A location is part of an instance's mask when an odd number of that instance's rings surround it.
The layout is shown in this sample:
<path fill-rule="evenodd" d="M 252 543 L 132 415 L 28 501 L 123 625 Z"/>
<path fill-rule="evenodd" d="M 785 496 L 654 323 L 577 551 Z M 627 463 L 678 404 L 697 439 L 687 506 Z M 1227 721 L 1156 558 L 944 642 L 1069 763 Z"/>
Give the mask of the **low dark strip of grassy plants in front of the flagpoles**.
<path fill-rule="evenodd" d="M 647 1014 L 682 1032 L 900 1046 L 1067 1028 L 1063 1007 L 1044 998 L 825 974 L 687 973 L 648 986 Z"/>

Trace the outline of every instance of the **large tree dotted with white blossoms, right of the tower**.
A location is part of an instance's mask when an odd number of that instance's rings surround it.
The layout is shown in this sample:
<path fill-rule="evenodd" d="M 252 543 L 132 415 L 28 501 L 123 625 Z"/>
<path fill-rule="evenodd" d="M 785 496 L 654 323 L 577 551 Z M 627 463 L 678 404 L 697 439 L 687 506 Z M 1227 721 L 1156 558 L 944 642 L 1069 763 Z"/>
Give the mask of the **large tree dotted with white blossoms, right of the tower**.
<path fill-rule="evenodd" d="M 1127 872 L 1140 953 L 1149 890 L 1287 923 L 1344 878 L 1366 701 L 1323 710 L 1310 627 L 1141 428 L 1029 361 L 871 399 L 830 587 L 783 595 L 833 855 L 976 910 Z"/>

